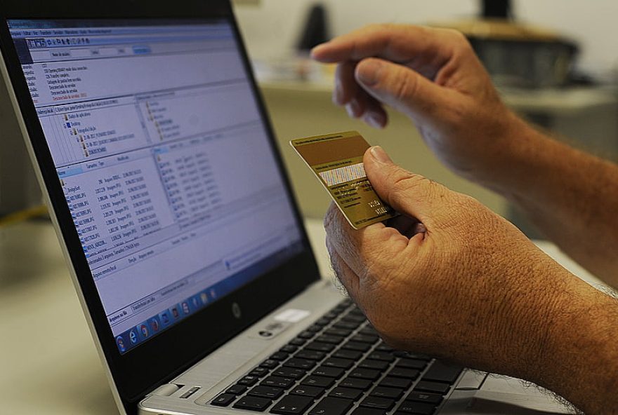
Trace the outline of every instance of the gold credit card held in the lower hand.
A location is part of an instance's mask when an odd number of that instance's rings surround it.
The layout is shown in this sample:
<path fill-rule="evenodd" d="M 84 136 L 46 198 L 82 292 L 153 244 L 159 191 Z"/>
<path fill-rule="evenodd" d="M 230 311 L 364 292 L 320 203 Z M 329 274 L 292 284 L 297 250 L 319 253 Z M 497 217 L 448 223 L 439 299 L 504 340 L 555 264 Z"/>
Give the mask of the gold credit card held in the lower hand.
<path fill-rule="evenodd" d="M 395 217 L 364 172 L 362 156 L 369 144 L 357 131 L 291 140 L 290 144 L 329 191 L 354 229 Z"/>

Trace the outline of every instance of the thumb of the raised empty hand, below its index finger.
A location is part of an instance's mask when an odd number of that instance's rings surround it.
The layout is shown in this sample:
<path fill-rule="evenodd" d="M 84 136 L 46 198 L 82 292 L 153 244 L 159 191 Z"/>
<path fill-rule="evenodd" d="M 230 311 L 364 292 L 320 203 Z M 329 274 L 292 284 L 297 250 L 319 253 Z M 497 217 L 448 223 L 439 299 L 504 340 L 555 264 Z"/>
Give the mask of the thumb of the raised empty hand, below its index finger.
<path fill-rule="evenodd" d="M 413 118 L 433 118 L 452 94 L 409 67 L 375 57 L 357 64 L 355 78 L 376 100 Z"/>

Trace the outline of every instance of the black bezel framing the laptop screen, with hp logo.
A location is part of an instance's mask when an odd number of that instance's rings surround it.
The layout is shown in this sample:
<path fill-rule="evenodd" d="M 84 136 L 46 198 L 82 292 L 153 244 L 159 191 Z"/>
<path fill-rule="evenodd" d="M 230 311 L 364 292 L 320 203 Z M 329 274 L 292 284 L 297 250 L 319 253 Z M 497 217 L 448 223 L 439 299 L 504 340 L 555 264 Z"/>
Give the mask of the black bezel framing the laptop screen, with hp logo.
<path fill-rule="evenodd" d="M 15 97 L 25 122 L 29 142 L 48 191 L 62 239 L 77 275 L 79 290 L 86 300 L 88 313 L 93 321 L 96 337 L 110 368 L 114 384 L 130 414 L 136 413 L 136 404 L 160 383 L 180 374 L 209 352 L 228 341 L 251 323 L 282 304 L 294 294 L 319 279 L 317 264 L 311 252 L 301 215 L 291 192 L 289 179 L 284 172 L 282 158 L 274 139 L 263 99 L 256 87 L 246 50 L 239 34 L 228 0 L 185 0 L 173 6 L 162 0 L 111 0 L 88 3 L 76 0 L 58 2 L 11 1 L 0 10 L 0 48 L 8 69 Z M 72 222 L 65 196 L 58 180 L 51 153 L 29 95 L 25 76 L 8 32 L 6 20 L 11 19 L 225 19 L 230 22 L 239 42 L 244 69 L 254 89 L 258 109 L 264 121 L 272 151 L 277 159 L 289 200 L 294 205 L 294 215 L 303 234 L 303 250 L 275 270 L 251 281 L 239 290 L 219 299 L 208 308 L 170 327 L 139 347 L 121 355 L 101 304 L 90 268 L 81 249 L 79 236 Z M 232 304 L 242 308 L 242 317 L 235 318 Z"/>

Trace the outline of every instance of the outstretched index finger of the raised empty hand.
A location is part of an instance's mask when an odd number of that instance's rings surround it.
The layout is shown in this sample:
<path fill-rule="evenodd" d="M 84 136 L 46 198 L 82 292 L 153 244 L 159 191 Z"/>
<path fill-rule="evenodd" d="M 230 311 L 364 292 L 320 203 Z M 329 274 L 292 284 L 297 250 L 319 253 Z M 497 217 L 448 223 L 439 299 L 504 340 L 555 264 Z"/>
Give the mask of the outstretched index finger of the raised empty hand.
<path fill-rule="evenodd" d="M 311 56 L 329 63 L 381 57 L 404 64 L 426 56 L 432 66 L 441 67 L 453 53 L 451 34 L 421 26 L 370 25 L 316 46 Z"/>

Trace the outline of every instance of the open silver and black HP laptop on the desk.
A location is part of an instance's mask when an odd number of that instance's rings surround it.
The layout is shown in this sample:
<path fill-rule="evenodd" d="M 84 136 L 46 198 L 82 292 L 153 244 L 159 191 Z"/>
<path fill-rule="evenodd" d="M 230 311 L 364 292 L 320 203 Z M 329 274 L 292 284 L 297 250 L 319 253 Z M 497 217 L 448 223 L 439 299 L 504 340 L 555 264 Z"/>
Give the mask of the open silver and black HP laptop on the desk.
<path fill-rule="evenodd" d="M 1 71 L 121 413 L 563 409 L 393 350 L 320 280 L 228 1 L 13 1 L 0 20 Z"/>

